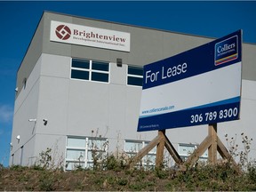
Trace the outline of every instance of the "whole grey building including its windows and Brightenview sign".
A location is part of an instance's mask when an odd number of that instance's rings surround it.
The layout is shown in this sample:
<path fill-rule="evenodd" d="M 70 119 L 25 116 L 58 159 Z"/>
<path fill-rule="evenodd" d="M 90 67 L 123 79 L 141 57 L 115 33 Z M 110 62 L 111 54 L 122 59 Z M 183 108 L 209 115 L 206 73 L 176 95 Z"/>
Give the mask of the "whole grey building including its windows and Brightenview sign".
<path fill-rule="evenodd" d="M 35 164 L 47 148 L 67 170 L 92 166 L 95 150 L 135 154 L 157 135 L 137 132 L 143 66 L 211 41 L 44 12 L 17 73 L 10 165 Z M 256 135 L 255 53 L 255 44 L 243 44 L 241 119 L 218 124 L 220 140 L 225 143 L 228 134 L 241 149 L 242 132 Z M 207 131 L 200 125 L 166 135 L 186 158 Z M 254 140 L 251 145 L 255 158 Z M 154 164 L 155 157 L 153 149 L 143 161 Z"/>

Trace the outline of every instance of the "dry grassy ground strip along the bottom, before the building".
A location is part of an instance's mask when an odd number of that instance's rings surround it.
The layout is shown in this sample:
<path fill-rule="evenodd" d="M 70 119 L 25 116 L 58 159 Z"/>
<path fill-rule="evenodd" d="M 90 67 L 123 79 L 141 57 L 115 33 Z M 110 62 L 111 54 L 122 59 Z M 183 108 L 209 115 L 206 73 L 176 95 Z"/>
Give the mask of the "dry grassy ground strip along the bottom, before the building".
<path fill-rule="evenodd" d="M 40 170 L 13 166 L 0 170 L 1 191 L 253 191 L 256 168 L 237 174 L 226 164 L 204 165 L 186 172 L 173 170 Z"/>

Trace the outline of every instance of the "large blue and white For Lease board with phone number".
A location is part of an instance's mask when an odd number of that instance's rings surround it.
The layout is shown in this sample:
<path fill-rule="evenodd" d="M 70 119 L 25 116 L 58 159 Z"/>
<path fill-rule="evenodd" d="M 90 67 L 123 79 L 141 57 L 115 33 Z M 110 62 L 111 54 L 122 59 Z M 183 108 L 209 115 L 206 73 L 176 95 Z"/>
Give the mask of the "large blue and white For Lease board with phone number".
<path fill-rule="evenodd" d="M 242 31 L 144 66 L 138 132 L 239 119 Z"/>

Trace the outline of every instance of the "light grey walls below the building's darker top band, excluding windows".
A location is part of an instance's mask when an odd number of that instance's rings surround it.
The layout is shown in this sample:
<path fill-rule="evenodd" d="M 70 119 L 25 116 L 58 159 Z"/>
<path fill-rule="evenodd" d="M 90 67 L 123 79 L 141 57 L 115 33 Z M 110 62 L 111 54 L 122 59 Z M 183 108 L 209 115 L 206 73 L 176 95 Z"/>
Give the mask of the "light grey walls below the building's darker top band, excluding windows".
<path fill-rule="evenodd" d="M 70 79 L 71 58 L 42 54 L 28 77 L 26 90 L 15 103 L 12 131 L 13 163 L 33 164 L 35 156 L 46 148 L 57 148 L 65 156 L 66 138 L 70 136 L 101 136 L 108 138 L 109 150 L 124 150 L 124 140 L 152 140 L 157 132 L 137 132 L 141 87 L 126 85 L 127 65 L 110 67 L 110 84 Z M 39 76 L 40 78 L 36 78 Z M 36 118 L 36 124 L 28 122 Z M 48 123 L 44 125 L 43 119 Z M 256 119 L 256 83 L 243 80 L 241 119 L 218 124 L 218 135 L 224 144 L 236 137 L 243 150 L 241 133 L 252 138 L 251 156 L 256 157 L 254 138 Z M 166 130 L 176 149 L 179 143 L 200 144 L 208 134 L 208 126 Z M 93 131 L 93 132 L 92 132 Z M 15 139 L 20 134 L 20 142 Z M 17 142 L 17 143 L 16 143 Z M 56 153 L 56 152 L 54 152 Z M 12 157 L 10 158 L 10 164 Z"/>

